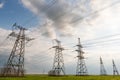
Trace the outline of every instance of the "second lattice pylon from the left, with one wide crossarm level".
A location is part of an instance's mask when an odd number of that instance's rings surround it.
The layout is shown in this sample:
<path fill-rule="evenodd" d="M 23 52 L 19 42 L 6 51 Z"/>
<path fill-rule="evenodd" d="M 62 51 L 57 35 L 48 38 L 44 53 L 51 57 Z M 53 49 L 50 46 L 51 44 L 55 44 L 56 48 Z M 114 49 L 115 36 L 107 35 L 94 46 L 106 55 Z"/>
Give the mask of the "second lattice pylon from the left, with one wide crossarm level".
<path fill-rule="evenodd" d="M 64 60 L 62 54 L 64 48 L 61 47 L 60 41 L 56 40 L 56 42 L 57 45 L 52 47 L 55 48 L 55 56 L 54 56 L 53 68 L 51 71 L 49 71 L 50 76 L 65 75 L 65 67 L 64 67 Z"/>

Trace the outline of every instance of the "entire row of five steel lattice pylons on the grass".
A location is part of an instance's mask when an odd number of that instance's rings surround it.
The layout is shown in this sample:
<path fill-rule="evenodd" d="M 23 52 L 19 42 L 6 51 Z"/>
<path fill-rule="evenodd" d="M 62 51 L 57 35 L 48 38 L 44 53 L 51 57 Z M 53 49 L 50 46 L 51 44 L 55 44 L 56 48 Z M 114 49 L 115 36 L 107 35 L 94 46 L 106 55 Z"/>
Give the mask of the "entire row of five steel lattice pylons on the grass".
<path fill-rule="evenodd" d="M 14 29 L 19 30 L 19 33 L 15 33 Z M 23 77 L 25 74 L 24 69 L 24 54 L 25 54 L 25 43 L 26 41 L 31 41 L 33 39 L 28 38 L 25 36 L 25 28 L 14 24 L 13 25 L 13 31 L 9 36 L 16 37 L 16 41 L 14 43 L 13 49 L 11 51 L 11 54 L 8 58 L 8 61 L 6 65 L 1 69 L 1 75 L 3 77 Z M 62 51 L 65 50 L 61 46 L 61 42 L 57 39 L 55 39 L 57 42 L 56 46 L 53 46 L 52 48 L 55 49 L 55 56 L 54 56 L 54 62 L 52 70 L 48 72 L 50 76 L 61 76 L 65 75 L 65 67 L 64 67 L 64 59 Z M 78 61 L 77 61 L 77 67 L 76 67 L 76 76 L 83 76 L 88 75 L 87 67 L 85 64 L 85 57 L 84 57 L 84 51 L 82 50 L 83 46 L 80 43 L 80 38 L 78 38 L 78 44 L 77 50 L 75 50 L 78 53 Z M 102 58 L 100 57 L 100 73 L 101 75 L 107 75 L 107 72 L 105 70 L 105 67 L 103 65 Z M 116 65 L 113 60 L 113 75 L 119 75 L 118 70 L 116 68 Z"/>

